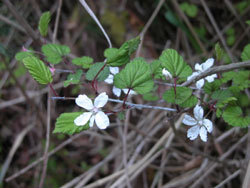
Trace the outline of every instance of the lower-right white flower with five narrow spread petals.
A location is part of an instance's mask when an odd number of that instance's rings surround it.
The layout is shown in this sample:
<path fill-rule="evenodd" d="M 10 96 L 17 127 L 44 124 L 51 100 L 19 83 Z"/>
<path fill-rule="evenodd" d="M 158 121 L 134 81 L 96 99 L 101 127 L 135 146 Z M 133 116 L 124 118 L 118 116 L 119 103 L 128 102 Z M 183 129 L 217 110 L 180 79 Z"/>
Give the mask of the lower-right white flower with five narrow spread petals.
<path fill-rule="evenodd" d="M 190 140 L 194 140 L 200 135 L 203 142 L 207 141 L 207 132 L 211 133 L 213 131 L 213 123 L 209 119 L 203 118 L 204 111 L 202 107 L 196 105 L 194 108 L 194 117 L 185 115 L 182 123 L 193 126 L 188 129 L 187 137 Z"/>

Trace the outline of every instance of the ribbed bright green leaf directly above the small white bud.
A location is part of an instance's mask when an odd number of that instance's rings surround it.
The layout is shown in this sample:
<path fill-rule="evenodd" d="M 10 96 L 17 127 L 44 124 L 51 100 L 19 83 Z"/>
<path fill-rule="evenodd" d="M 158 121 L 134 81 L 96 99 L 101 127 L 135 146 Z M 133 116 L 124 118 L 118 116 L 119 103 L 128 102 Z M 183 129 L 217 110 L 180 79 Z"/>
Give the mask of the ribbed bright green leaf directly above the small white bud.
<path fill-rule="evenodd" d="M 192 74 L 192 69 L 174 49 L 164 50 L 160 56 L 163 68 L 166 68 L 173 77 L 186 79 Z"/>

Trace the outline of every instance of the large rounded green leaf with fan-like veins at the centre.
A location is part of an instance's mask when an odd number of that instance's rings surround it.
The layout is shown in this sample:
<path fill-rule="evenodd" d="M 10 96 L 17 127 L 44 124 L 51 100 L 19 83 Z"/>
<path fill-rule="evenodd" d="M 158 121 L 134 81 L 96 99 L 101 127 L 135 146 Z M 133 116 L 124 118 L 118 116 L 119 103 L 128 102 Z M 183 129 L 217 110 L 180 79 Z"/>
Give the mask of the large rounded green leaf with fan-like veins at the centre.
<path fill-rule="evenodd" d="M 133 89 L 139 94 L 148 93 L 154 86 L 149 64 L 142 58 L 134 59 L 115 75 L 114 85 L 120 89 Z"/>

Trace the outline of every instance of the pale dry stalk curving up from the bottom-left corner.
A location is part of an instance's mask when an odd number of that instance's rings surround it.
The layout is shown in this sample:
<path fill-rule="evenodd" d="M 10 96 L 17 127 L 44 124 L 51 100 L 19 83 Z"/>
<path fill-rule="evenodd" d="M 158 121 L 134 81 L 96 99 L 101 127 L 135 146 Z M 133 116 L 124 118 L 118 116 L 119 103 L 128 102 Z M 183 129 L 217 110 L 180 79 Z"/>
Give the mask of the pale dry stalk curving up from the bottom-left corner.
<path fill-rule="evenodd" d="M 22 132 L 20 132 L 17 136 L 17 138 L 15 139 L 14 144 L 12 145 L 10 152 L 2 166 L 2 170 L 1 170 L 1 174 L 0 174 L 0 184 L 2 184 L 3 179 L 5 177 L 5 174 L 9 168 L 9 165 L 16 153 L 16 150 L 19 148 L 19 146 L 21 145 L 23 138 L 25 137 L 25 135 L 35 126 L 35 124 L 31 124 L 27 127 L 25 127 Z"/>

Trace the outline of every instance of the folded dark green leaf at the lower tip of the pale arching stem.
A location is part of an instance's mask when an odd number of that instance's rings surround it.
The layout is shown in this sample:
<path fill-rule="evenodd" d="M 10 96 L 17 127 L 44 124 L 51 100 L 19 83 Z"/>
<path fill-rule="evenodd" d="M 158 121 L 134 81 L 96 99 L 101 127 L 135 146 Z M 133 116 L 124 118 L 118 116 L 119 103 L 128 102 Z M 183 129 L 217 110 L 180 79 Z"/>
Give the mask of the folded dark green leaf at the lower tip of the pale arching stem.
<path fill-rule="evenodd" d="M 107 58 L 107 64 L 113 67 L 127 64 L 130 61 L 131 54 L 138 48 L 140 38 L 136 37 L 125 42 L 119 49 L 111 48 L 104 52 Z"/>

